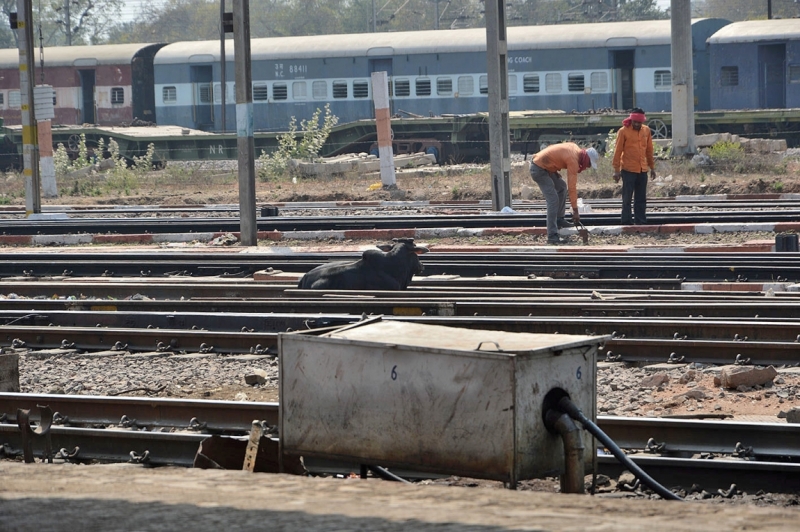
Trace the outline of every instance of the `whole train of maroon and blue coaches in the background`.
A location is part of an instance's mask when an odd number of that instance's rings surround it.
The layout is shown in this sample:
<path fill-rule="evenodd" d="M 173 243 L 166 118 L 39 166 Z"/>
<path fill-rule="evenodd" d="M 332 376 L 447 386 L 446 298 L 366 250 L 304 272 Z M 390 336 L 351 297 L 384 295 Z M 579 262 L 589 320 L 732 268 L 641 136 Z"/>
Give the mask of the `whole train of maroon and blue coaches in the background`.
<path fill-rule="evenodd" d="M 391 76 L 401 116 L 486 111 L 484 29 L 253 39 L 254 128 L 285 131 L 330 104 L 340 123 L 374 116 L 370 75 Z M 800 107 L 800 22 L 692 22 L 695 107 Z M 55 88 L 55 123 L 134 119 L 235 131 L 233 43 L 221 123 L 218 41 L 45 48 L 35 82 Z M 37 54 L 38 56 L 39 54 Z M 671 106 L 670 21 L 508 28 L 510 110 Z M 0 116 L 18 124 L 19 55 L 0 50 Z"/>

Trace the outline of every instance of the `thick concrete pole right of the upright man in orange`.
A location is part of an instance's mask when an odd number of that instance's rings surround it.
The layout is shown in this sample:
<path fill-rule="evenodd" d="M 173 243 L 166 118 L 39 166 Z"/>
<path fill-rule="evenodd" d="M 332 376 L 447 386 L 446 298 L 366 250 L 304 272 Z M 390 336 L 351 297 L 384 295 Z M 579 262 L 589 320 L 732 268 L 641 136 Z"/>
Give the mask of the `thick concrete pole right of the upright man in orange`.
<path fill-rule="evenodd" d="M 672 0 L 672 154 L 695 153 L 692 8 L 689 0 Z"/>

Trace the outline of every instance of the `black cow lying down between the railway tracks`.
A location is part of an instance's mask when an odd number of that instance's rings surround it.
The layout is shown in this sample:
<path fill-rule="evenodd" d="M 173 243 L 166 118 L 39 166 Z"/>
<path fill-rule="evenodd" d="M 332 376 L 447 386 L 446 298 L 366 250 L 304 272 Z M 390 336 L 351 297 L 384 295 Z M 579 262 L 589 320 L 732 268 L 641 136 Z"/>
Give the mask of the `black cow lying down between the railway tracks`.
<path fill-rule="evenodd" d="M 413 238 L 394 238 L 394 244 L 368 249 L 355 262 L 331 262 L 317 266 L 297 283 L 316 290 L 405 290 L 414 274 L 423 270 L 419 257 L 428 248 Z"/>

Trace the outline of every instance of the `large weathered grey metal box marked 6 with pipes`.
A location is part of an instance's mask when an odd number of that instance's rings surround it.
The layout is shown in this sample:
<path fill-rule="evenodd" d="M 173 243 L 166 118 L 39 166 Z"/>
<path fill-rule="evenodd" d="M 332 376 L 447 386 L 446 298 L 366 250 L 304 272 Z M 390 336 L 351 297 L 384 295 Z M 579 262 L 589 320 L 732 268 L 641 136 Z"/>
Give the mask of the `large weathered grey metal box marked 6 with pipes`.
<path fill-rule="evenodd" d="M 543 401 L 563 390 L 595 420 L 607 338 L 400 321 L 280 334 L 282 452 L 512 485 L 560 474 L 563 443 L 544 426 Z"/>

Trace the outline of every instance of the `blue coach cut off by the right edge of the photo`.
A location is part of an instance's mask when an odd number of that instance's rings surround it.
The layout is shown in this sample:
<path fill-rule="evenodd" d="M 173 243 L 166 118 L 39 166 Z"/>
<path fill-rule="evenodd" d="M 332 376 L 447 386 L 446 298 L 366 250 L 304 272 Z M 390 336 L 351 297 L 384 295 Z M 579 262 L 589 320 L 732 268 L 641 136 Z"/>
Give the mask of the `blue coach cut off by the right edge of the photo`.
<path fill-rule="evenodd" d="M 800 107 L 800 20 L 734 22 L 708 44 L 714 109 Z"/>

